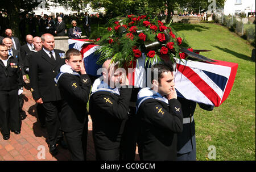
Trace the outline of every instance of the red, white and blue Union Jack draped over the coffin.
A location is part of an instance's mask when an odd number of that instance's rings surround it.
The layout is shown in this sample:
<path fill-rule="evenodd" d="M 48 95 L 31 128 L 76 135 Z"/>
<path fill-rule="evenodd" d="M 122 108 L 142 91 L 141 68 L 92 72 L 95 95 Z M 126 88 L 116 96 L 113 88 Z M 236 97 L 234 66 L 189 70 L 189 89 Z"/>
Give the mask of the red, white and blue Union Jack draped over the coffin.
<path fill-rule="evenodd" d="M 101 68 L 96 64 L 99 57 L 98 54 L 94 54 L 96 50 L 97 45 L 85 45 L 81 49 L 86 72 L 91 75 L 96 75 L 97 70 Z M 127 74 L 130 85 L 137 87 L 147 85 L 145 58 L 142 53 L 142 57 L 137 58 L 137 61 L 130 65 L 134 68 L 133 72 Z M 228 98 L 238 64 L 219 60 L 215 60 L 215 62 L 179 60 L 178 58 L 175 60 L 177 64 L 175 88 L 179 97 L 216 107 Z"/>

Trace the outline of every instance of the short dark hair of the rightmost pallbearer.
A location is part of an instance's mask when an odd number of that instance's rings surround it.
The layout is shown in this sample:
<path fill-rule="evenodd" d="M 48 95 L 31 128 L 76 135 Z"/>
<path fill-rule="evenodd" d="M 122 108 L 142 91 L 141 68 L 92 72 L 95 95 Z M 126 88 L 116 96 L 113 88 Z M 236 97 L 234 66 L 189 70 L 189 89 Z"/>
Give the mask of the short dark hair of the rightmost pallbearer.
<path fill-rule="evenodd" d="M 160 79 L 163 78 L 164 72 L 174 72 L 174 66 L 173 65 L 163 65 L 163 64 L 155 64 L 151 67 L 151 83 L 154 79 L 154 70 L 158 72 L 158 82 L 160 82 Z"/>

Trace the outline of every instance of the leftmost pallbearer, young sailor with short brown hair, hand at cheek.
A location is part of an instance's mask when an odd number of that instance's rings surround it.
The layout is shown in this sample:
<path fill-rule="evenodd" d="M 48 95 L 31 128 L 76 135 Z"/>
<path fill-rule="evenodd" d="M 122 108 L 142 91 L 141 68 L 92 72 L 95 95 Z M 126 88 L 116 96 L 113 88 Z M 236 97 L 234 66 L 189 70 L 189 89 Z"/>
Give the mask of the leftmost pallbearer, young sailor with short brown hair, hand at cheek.
<path fill-rule="evenodd" d="M 56 77 L 63 98 L 60 123 L 73 161 L 86 160 L 88 112 L 91 81 L 86 74 L 82 54 L 77 49 L 66 53 L 66 64 Z"/>

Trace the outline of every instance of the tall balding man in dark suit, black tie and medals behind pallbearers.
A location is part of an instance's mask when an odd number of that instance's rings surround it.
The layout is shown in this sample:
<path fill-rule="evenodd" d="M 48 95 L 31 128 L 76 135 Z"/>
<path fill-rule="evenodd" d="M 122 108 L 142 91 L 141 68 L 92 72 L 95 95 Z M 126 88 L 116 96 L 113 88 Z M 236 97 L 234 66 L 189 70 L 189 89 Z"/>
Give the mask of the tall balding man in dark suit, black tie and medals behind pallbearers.
<path fill-rule="evenodd" d="M 46 129 L 48 133 L 49 152 L 57 154 L 57 139 L 62 137 L 58 114 L 61 111 L 60 90 L 54 78 L 60 66 L 65 64 L 65 53 L 54 49 L 54 37 L 45 33 L 41 37 L 43 49 L 32 54 L 30 58 L 31 93 L 36 103 L 42 104 L 46 112 Z M 60 139 L 62 140 L 62 139 Z M 61 142 L 60 142 L 61 144 Z"/>

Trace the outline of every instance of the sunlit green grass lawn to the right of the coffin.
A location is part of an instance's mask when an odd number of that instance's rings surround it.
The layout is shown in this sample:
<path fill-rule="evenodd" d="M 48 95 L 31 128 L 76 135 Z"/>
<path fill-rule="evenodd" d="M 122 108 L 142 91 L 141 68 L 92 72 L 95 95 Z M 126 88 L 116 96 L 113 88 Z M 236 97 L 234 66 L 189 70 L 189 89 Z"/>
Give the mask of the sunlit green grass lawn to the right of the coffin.
<path fill-rule="evenodd" d="M 238 64 L 228 99 L 213 111 L 197 106 L 197 160 L 208 160 L 208 147 L 216 147 L 216 160 L 255 161 L 255 62 L 254 48 L 246 40 L 216 24 L 173 23 L 177 34 L 195 49 L 210 49 L 206 57 Z"/>

